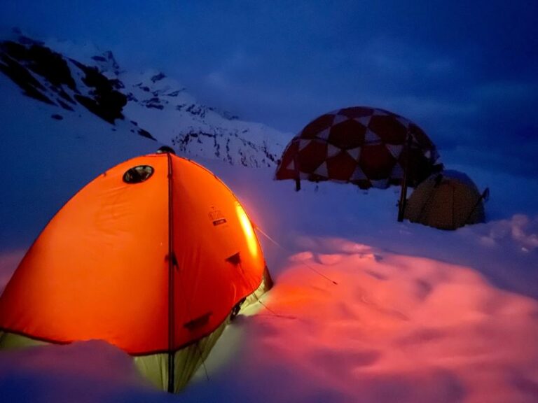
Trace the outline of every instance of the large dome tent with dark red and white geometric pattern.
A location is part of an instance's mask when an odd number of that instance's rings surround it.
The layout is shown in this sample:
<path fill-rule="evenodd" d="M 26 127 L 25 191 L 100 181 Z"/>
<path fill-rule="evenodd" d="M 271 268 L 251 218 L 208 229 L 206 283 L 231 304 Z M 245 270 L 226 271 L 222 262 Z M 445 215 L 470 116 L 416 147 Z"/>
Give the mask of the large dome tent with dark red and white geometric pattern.
<path fill-rule="evenodd" d="M 277 179 L 354 183 L 362 189 L 418 185 L 436 170 L 439 155 L 410 120 L 379 108 L 355 106 L 319 116 L 291 140 Z"/>

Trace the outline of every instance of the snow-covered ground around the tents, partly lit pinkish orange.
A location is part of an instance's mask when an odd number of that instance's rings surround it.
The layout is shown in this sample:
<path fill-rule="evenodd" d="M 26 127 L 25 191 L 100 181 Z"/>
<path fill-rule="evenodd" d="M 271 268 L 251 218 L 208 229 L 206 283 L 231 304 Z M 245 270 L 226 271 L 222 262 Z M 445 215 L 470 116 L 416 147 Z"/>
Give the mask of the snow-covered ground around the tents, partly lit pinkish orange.
<path fill-rule="evenodd" d="M 69 197 L 159 144 L 83 108 L 51 119 L 57 108 L 22 97 L 1 75 L 0 87 L 2 290 Z M 272 169 L 197 161 L 258 228 L 275 279 L 258 313 L 226 329 L 207 376 L 200 369 L 180 395 L 151 388 L 117 348 L 87 341 L 1 351 L 3 401 L 538 400 L 534 178 L 443 158 L 491 194 L 487 223 L 443 232 L 397 222 L 395 188 L 303 183 L 295 192 Z"/>

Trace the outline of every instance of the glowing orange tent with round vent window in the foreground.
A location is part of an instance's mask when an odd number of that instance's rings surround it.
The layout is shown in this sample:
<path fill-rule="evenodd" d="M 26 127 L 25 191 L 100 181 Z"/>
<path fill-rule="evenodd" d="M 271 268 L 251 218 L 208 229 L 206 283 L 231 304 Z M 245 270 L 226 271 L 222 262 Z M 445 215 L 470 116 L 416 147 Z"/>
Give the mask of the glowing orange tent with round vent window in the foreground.
<path fill-rule="evenodd" d="M 28 250 L 0 297 L 0 348 L 103 339 L 177 392 L 270 285 L 226 185 L 171 153 L 136 157 L 82 188 Z"/>

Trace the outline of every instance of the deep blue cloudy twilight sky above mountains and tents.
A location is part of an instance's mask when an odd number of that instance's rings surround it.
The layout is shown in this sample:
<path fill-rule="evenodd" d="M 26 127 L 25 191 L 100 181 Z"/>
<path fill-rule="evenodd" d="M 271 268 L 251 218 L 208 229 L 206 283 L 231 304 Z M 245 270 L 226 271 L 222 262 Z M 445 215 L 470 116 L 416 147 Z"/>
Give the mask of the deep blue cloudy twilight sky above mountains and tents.
<path fill-rule="evenodd" d="M 286 132 L 376 106 L 452 162 L 538 173 L 536 0 L 0 0 L 0 27 L 90 41 Z"/>

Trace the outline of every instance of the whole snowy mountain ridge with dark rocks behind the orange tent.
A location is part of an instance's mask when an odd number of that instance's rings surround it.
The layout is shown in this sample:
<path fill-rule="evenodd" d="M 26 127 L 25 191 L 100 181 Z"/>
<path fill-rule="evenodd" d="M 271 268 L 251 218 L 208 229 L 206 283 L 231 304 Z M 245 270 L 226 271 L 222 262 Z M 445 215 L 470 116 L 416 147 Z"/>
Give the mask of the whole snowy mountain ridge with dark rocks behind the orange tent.
<path fill-rule="evenodd" d="M 0 71 L 62 120 L 81 108 L 112 129 L 172 146 L 179 155 L 245 167 L 272 167 L 291 135 L 200 104 L 160 71 L 122 69 L 93 45 L 36 41 L 17 34 L 0 42 Z"/>

